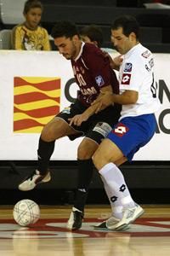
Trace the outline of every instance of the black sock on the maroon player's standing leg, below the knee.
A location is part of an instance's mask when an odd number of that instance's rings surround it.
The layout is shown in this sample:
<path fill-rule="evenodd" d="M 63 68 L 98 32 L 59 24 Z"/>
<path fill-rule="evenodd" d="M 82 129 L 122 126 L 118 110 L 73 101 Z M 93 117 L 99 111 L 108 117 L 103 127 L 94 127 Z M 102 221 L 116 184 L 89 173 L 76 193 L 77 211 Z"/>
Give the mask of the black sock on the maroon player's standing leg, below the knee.
<path fill-rule="evenodd" d="M 78 186 L 74 207 L 83 212 L 88 197 L 88 188 L 93 177 L 94 164 L 91 159 L 77 160 L 77 162 Z"/>

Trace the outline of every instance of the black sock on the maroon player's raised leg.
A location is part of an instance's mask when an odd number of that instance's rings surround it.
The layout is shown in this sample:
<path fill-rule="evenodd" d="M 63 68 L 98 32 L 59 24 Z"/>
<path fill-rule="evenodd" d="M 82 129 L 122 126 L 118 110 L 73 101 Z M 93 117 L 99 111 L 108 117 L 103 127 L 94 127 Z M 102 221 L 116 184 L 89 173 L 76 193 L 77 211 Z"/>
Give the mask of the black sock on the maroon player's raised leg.
<path fill-rule="evenodd" d="M 37 170 L 43 175 L 48 171 L 48 163 L 50 160 L 51 155 L 54 152 L 54 143 L 46 143 L 42 141 L 42 138 L 39 139 L 39 145 L 37 149 L 37 156 L 38 156 L 38 162 L 37 162 Z"/>

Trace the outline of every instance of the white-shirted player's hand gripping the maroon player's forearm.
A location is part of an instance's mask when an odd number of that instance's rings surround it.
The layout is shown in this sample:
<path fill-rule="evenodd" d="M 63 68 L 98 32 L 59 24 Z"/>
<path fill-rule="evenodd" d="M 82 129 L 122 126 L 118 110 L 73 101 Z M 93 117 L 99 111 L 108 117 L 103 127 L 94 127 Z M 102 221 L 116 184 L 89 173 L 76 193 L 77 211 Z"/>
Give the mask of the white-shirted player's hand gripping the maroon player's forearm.
<path fill-rule="evenodd" d="M 100 96 L 92 102 L 92 105 L 97 104 L 95 113 L 109 107 L 113 104 L 113 94 L 110 91 L 100 92 Z"/>

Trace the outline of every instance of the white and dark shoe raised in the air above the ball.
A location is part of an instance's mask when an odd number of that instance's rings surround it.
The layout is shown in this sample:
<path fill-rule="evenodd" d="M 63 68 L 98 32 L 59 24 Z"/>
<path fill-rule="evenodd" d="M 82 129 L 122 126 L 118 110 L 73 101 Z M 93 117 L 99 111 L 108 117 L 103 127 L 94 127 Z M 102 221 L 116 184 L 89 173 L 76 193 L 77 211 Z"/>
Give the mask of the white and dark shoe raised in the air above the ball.
<path fill-rule="evenodd" d="M 34 189 L 38 183 L 48 183 L 51 176 L 50 172 L 47 172 L 45 175 L 41 175 L 39 171 L 34 171 L 30 176 L 26 177 L 25 180 L 19 184 L 19 189 L 22 191 L 29 191 Z"/>

